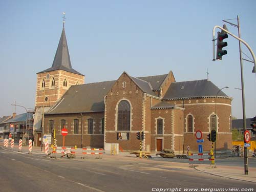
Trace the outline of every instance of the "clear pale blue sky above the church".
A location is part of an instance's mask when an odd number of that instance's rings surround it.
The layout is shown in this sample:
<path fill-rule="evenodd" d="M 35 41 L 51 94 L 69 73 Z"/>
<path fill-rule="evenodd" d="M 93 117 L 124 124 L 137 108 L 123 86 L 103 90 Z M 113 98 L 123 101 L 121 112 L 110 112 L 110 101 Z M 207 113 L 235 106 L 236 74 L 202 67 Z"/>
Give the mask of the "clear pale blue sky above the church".
<path fill-rule="evenodd" d="M 4 1 L 0 0 L 0 117 L 16 102 L 35 105 L 36 73 L 52 66 L 66 13 L 72 68 L 85 82 L 167 74 L 179 81 L 207 79 L 232 97 L 232 115 L 242 118 L 239 42 L 229 36 L 227 55 L 212 61 L 212 29 L 226 19 L 256 52 L 256 1 Z M 238 28 L 226 24 L 238 36 Z M 216 36 L 217 31 L 216 30 Z M 242 57 L 251 57 L 242 45 Z M 247 56 L 246 56 L 247 55 Z M 256 115 L 256 75 L 243 61 L 245 114 Z M 239 89 L 234 89 L 239 88 Z M 16 113 L 24 113 L 18 107 Z"/>

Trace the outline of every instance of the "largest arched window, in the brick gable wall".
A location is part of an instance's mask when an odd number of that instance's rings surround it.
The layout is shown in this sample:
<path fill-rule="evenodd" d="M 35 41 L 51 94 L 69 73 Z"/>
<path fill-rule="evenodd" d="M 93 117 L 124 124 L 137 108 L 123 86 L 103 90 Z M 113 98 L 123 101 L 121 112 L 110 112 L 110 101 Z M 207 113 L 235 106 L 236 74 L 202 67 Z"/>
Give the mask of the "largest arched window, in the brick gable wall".
<path fill-rule="evenodd" d="M 117 130 L 130 131 L 131 106 L 128 101 L 121 101 L 118 104 Z"/>

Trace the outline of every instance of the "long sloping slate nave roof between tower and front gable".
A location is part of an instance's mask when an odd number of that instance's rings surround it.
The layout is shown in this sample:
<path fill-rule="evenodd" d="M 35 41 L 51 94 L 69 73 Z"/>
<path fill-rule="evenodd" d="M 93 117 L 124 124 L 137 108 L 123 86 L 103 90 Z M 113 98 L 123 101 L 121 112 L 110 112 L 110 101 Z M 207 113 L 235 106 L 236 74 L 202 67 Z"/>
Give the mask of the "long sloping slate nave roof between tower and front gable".
<path fill-rule="evenodd" d="M 71 86 L 46 114 L 103 112 L 104 95 L 115 81 L 104 81 Z"/>

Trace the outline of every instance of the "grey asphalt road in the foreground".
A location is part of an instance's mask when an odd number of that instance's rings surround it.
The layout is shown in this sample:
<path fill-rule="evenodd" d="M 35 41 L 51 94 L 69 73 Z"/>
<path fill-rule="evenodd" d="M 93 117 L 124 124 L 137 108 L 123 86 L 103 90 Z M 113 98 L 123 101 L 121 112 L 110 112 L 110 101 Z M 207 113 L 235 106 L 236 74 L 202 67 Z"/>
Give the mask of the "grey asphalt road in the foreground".
<path fill-rule="evenodd" d="M 255 183 L 212 176 L 177 162 L 117 156 L 52 159 L 0 147 L 0 191 L 115 192 L 160 191 L 159 188 L 169 188 L 169 191 L 185 191 L 186 188 L 256 190 Z"/>

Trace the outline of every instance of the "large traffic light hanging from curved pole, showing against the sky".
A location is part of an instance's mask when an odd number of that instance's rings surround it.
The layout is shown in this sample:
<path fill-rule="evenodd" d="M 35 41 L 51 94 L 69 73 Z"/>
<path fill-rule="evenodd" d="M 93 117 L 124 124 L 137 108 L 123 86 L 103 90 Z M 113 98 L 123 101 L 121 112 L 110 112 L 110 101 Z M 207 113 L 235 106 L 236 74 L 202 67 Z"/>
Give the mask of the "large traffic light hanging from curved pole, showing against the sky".
<path fill-rule="evenodd" d="M 223 25 L 223 28 L 226 29 L 226 25 Z M 217 60 L 222 60 L 222 56 L 227 54 L 226 50 L 222 50 L 223 47 L 227 46 L 227 42 L 223 42 L 223 39 L 228 38 L 228 35 L 225 31 L 218 32 L 217 37 Z"/>

